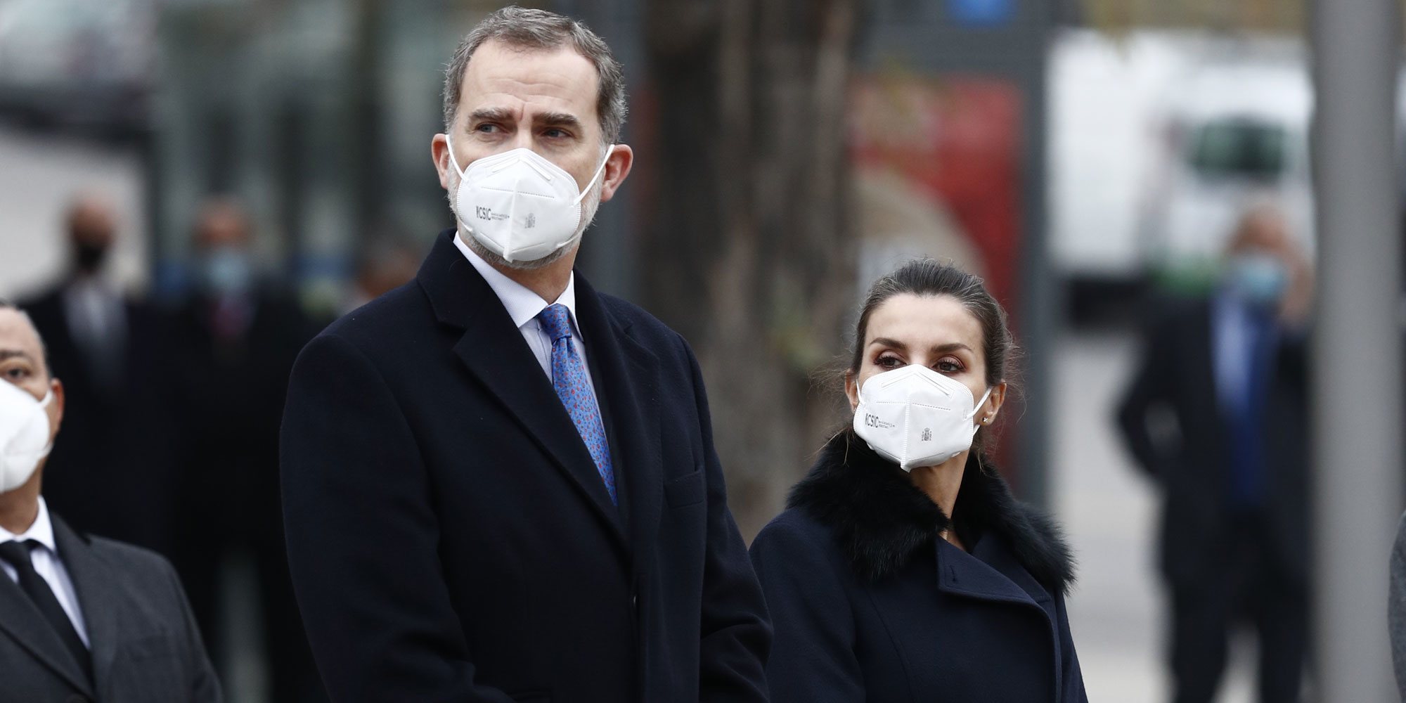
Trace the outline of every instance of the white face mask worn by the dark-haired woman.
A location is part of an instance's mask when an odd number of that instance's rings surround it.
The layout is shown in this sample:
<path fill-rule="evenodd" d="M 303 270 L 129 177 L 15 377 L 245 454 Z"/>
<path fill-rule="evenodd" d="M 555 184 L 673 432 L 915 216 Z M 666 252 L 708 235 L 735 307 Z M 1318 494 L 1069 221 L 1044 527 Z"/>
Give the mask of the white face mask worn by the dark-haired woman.
<path fill-rule="evenodd" d="M 908 364 L 869 377 L 859 388 L 855 434 L 904 471 L 938 465 L 969 449 L 972 420 L 991 388 L 973 402 L 966 384 Z"/>

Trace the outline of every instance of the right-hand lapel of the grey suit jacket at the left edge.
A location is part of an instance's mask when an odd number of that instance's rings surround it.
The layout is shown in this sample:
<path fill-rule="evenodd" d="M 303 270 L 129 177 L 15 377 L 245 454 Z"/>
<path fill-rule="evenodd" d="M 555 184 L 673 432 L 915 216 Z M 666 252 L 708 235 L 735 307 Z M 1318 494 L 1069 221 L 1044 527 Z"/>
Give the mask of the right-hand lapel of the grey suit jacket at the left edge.
<path fill-rule="evenodd" d="M 52 517 L 53 541 L 63 567 L 69 571 L 69 579 L 73 581 L 73 591 L 87 627 L 89 650 L 93 652 L 93 679 L 104 682 L 111 676 L 121 638 L 112 596 L 124 586 L 118 583 L 107 562 L 93 554 L 87 537 L 73 531 L 59 516 Z"/>

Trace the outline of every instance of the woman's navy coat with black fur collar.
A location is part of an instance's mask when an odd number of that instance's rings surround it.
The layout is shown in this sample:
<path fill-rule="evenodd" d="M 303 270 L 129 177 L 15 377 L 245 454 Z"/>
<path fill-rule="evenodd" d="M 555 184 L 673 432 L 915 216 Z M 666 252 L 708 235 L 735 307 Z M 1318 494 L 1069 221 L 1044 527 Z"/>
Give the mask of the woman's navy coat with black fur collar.
<path fill-rule="evenodd" d="M 974 457 L 974 453 L 973 453 Z M 955 524 L 897 464 L 832 439 L 752 544 L 772 703 L 1081 703 L 1069 548 L 973 458 Z M 938 537 L 953 526 L 970 554 Z"/>

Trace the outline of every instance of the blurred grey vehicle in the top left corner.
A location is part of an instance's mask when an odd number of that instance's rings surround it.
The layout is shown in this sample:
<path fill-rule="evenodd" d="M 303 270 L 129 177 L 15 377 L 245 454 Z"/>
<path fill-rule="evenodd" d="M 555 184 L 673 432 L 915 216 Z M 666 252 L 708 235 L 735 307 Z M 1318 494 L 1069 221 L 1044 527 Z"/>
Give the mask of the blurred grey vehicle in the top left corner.
<path fill-rule="evenodd" d="M 155 67 L 153 0 L 0 0 L 0 112 L 141 131 Z"/>

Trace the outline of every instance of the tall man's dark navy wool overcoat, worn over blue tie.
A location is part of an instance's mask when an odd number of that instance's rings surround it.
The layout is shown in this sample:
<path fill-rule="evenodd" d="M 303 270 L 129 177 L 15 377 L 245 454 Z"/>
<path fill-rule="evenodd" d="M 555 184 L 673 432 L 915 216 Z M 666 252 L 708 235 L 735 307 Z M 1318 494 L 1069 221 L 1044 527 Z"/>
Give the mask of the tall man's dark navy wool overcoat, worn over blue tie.
<path fill-rule="evenodd" d="M 453 232 L 298 357 L 288 564 L 333 702 L 765 703 L 693 353 L 579 274 L 576 319 L 619 508 Z"/>

